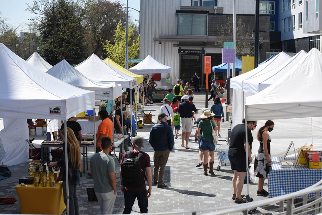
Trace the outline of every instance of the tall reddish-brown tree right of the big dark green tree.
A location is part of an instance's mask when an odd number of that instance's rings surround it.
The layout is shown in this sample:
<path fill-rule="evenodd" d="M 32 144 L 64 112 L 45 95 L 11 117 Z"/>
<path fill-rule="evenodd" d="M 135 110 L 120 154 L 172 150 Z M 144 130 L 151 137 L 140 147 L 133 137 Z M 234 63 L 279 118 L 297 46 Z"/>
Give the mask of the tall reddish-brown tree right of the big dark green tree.
<path fill-rule="evenodd" d="M 114 31 L 120 22 L 126 26 L 126 9 L 120 1 L 89 0 L 86 3 L 87 13 L 85 22 L 87 23 L 85 40 L 87 45 L 87 55 L 92 53 L 103 55 L 101 40 L 113 42 Z"/>

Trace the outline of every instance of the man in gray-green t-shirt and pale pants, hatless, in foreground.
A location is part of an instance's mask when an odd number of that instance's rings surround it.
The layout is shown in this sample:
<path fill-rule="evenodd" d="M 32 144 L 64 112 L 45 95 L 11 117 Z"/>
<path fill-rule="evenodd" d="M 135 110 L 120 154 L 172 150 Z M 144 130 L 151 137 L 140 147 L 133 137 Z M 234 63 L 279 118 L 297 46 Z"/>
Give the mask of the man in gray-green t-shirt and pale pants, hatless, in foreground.
<path fill-rule="evenodd" d="M 107 137 L 101 139 L 102 151 L 90 159 L 90 173 L 94 179 L 94 191 L 99 201 L 98 214 L 112 214 L 116 199 L 116 178 L 114 159 L 109 156 L 112 141 Z"/>

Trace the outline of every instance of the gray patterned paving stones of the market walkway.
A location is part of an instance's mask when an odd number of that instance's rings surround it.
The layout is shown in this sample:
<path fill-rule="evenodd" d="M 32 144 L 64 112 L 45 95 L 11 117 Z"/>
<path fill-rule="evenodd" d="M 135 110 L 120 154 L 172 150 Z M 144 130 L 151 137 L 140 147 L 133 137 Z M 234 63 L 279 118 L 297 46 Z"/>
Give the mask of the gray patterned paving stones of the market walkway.
<path fill-rule="evenodd" d="M 204 93 L 196 93 L 194 96 L 194 104 L 199 110 L 199 114 L 196 114 L 196 118 L 201 114 L 201 109 L 205 107 Z M 212 102 L 209 102 L 211 105 Z M 147 105 L 147 109 L 156 109 L 153 113 L 153 121 L 156 122 L 156 115 L 159 113 L 161 103 L 156 102 L 152 105 Z M 226 112 L 226 107 L 224 107 Z M 229 122 L 221 123 L 221 135 L 220 139 L 227 139 L 227 130 L 230 126 Z M 148 136 L 152 124 L 145 124 L 143 129 L 137 130 L 137 135 L 144 139 L 146 151 L 151 158 L 151 169 L 153 169 L 153 149 L 148 145 Z M 202 166 L 196 168 L 195 165 L 199 163 L 198 158 L 198 143 L 194 142 L 194 132 L 196 126 L 193 126 L 193 132 L 190 136 L 189 146 L 191 149 L 187 150 L 181 147 L 181 132 L 179 132 L 178 139 L 175 139 L 174 150 L 171 151 L 168 163 L 166 165 L 166 171 L 164 181 L 168 184 L 167 188 L 158 189 L 155 185 L 152 187 L 152 195 L 148 199 L 149 207 L 148 212 L 171 212 L 171 211 L 184 211 L 195 209 L 206 209 L 221 206 L 236 204 L 232 200 L 232 170 L 229 166 L 221 169 L 221 171 L 214 171 L 214 175 L 204 176 Z M 0 148 L 3 150 L 3 147 Z M 94 148 L 89 147 L 89 159 L 94 154 Z M 117 153 L 118 154 L 118 153 Z M 29 160 L 28 160 L 29 162 Z M 19 214 L 19 199 L 15 192 L 14 186 L 18 183 L 18 179 L 21 176 L 28 175 L 28 162 L 9 167 L 12 172 L 12 177 L 0 181 L 0 197 L 15 197 L 17 202 L 12 205 L 0 205 L 0 213 Z M 215 164 L 218 165 L 218 157 L 215 153 Z M 86 168 L 86 167 L 85 167 Z M 116 175 L 118 193 L 115 201 L 113 214 L 120 214 L 124 209 L 124 195 L 120 189 L 119 179 L 120 165 L 116 161 Z M 81 177 L 81 186 L 78 187 L 77 193 L 79 197 L 79 208 L 81 214 L 97 214 L 99 205 L 98 202 L 89 202 L 87 197 L 86 188 L 93 187 L 93 180 L 87 176 L 89 170 L 86 170 Z M 152 171 L 153 173 L 153 171 Z M 247 192 L 247 186 L 244 186 L 244 192 Z M 267 184 L 265 188 L 268 190 Z M 250 184 L 249 186 L 250 196 L 254 198 L 254 201 L 265 199 L 265 197 L 257 197 L 257 184 Z M 32 205 L 30 207 L 33 207 Z M 272 210 L 276 210 L 276 205 L 270 205 L 262 207 L 257 210 L 257 213 L 265 214 L 265 210 L 269 213 L 273 213 Z M 132 213 L 139 213 L 139 207 L 137 201 L 132 209 Z M 66 213 L 66 210 L 64 211 Z M 241 214 L 234 213 L 234 214 Z"/>

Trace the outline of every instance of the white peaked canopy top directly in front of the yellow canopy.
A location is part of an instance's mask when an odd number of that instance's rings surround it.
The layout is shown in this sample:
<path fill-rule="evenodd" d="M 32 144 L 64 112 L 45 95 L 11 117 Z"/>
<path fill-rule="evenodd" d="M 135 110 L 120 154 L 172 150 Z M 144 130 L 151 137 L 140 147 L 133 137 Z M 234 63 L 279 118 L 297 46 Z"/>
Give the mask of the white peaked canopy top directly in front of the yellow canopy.
<path fill-rule="evenodd" d="M 85 61 L 75 66 L 85 77 L 101 82 L 115 82 L 121 84 L 122 88 L 133 89 L 137 86 L 137 79 L 118 71 L 105 63 L 95 54 L 90 55 Z"/>

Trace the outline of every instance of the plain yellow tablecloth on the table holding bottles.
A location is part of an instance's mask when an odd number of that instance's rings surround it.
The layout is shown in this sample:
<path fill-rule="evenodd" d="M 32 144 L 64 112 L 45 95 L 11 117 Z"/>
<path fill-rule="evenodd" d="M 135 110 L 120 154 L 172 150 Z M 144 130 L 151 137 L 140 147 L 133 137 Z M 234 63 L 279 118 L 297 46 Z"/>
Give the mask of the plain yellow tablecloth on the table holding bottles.
<path fill-rule="evenodd" d="M 21 214 L 62 214 L 66 205 L 64 203 L 62 183 L 56 187 L 39 187 L 28 184 L 15 186 L 19 197 Z"/>

